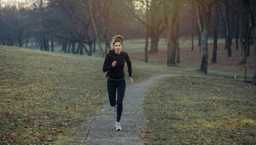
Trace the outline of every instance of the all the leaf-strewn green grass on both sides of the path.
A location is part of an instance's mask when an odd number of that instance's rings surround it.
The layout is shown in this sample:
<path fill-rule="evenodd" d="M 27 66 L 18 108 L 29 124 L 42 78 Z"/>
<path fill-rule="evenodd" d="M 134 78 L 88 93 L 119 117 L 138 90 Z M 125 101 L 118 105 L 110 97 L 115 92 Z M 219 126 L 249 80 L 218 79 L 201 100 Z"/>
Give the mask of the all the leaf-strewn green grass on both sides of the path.
<path fill-rule="evenodd" d="M 180 42 L 181 48 L 191 45 L 189 40 Z M 166 49 L 165 45 L 160 39 L 159 49 Z M 144 47 L 143 43 L 125 43 L 124 51 L 133 54 Z M 81 131 L 81 123 L 90 124 L 108 103 L 104 59 L 98 49 L 92 57 L 65 54 L 61 47 L 54 48 L 54 53 L 38 50 L 0 45 L 0 144 L 70 144 Z M 205 76 L 199 66 L 188 63 L 191 60 L 184 59 L 177 67 L 166 66 L 165 60 L 131 60 L 134 83 L 158 74 Z M 243 69 L 237 71 L 243 78 Z M 255 144 L 255 86 L 217 79 L 232 78 L 232 72 L 232 66 L 213 68 L 208 76 L 215 79 L 171 77 L 154 85 L 143 103 L 149 120 L 148 144 L 234 144 L 236 140 Z M 131 85 L 128 79 L 126 83 Z M 241 131 L 234 132 L 232 126 Z"/>

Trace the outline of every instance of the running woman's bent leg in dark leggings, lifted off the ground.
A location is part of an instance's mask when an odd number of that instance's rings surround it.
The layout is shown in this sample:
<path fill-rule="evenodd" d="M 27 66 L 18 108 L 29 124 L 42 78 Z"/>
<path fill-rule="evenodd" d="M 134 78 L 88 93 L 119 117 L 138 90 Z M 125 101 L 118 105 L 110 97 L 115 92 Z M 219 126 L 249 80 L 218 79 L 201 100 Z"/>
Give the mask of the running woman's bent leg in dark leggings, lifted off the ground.
<path fill-rule="evenodd" d="M 110 105 L 113 107 L 116 105 L 116 83 L 108 80 L 108 98 L 110 98 Z"/>

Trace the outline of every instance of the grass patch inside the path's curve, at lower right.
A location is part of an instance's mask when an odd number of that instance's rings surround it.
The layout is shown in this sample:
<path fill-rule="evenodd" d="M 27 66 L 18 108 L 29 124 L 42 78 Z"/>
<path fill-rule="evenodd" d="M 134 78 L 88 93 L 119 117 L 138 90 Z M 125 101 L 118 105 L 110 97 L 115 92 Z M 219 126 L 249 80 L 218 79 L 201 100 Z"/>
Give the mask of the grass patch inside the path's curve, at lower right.
<path fill-rule="evenodd" d="M 256 86 L 169 77 L 143 101 L 146 144 L 256 144 Z"/>

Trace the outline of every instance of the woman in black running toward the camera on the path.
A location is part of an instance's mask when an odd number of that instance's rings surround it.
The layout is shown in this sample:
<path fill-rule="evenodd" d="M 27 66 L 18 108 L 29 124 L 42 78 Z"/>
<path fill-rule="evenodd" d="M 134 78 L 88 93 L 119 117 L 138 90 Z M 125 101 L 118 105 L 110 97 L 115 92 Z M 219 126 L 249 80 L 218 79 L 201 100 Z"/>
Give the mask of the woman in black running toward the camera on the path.
<path fill-rule="evenodd" d="M 127 53 L 121 51 L 123 47 L 123 37 L 120 35 L 114 36 L 111 42 L 110 53 L 107 54 L 104 65 L 103 72 L 107 72 L 107 88 L 108 97 L 110 99 L 110 105 L 113 107 L 114 112 L 117 111 L 116 117 L 116 130 L 122 130 L 120 125 L 120 118 L 123 111 L 123 97 L 125 95 L 125 72 L 123 68 L 125 62 L 128 66 L 129 77 L 131 83 L 133 79 L 131 77 L 131 60 Z M 117 97 L 116 97 L 117 90 Z"/>

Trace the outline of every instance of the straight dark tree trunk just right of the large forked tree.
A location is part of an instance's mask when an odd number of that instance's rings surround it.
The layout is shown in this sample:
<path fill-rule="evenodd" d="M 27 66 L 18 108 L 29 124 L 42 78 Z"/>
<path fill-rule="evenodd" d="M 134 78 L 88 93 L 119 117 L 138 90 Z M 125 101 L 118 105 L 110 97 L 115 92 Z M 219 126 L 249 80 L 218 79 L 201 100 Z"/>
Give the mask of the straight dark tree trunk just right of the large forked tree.
<path fill-rule="evenodd" d="M 212 52 L 212 63 L 217 62 L 217 48 L 218 48 L 218 17 L 219 17 L 219 5 L 215 3 L 215 25 L 214 25 L 214 48 Z"/>

